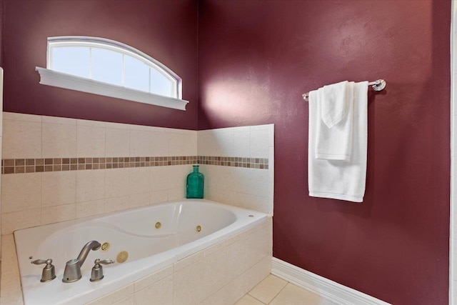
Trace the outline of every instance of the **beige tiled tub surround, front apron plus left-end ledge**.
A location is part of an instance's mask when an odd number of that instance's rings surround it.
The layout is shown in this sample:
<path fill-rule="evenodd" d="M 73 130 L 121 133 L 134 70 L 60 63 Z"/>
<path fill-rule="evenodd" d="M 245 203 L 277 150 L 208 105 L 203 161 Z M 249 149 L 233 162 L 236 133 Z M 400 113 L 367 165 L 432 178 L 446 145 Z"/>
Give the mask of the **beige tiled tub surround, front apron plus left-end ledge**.
<path fill-rule="evenodd" d="M 23 304 L 14 238 L 4 240 L 0 304 Z M 271 249 L 270 217 L 89 304 L 231 305 L 270 274 Z"/>

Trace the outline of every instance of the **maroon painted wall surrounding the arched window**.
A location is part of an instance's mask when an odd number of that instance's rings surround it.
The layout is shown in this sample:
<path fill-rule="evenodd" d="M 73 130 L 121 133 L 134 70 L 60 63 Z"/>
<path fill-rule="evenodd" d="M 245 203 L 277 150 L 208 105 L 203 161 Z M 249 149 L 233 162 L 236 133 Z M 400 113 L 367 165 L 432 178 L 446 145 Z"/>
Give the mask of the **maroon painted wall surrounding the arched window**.
<path fill-rule="evenodd" d="M 4 111 L 196 129 L 196 0 L 5 0 Z M 49 36 L 121 41 L 161 61 L 183 79 L 186 111 L 39 84 Z"/>

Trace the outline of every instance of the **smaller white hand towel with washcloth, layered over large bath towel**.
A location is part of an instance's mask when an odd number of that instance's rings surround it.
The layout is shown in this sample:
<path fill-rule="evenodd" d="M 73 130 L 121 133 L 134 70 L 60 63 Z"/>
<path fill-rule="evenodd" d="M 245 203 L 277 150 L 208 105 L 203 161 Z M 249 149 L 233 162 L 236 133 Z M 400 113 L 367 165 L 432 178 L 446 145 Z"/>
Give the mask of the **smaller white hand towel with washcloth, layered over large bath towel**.
<path fill-rule="evenodd" d="M 316 159 L 351 159 L 353 81 L 323 86 L 317 91 Z"/>

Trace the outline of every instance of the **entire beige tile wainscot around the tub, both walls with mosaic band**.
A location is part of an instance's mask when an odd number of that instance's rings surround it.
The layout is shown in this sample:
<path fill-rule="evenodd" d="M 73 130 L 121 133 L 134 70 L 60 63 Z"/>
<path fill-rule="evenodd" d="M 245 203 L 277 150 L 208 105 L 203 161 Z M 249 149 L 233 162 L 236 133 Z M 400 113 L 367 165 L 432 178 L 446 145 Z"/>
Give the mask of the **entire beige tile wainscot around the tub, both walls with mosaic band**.
<path fill-rule="evenodd" d="M 196 163 L 206 199 L 273 214 L 273 125 L 197 132 L 5 112 L 3 129 L 1 234 L 184 198 Z"/>

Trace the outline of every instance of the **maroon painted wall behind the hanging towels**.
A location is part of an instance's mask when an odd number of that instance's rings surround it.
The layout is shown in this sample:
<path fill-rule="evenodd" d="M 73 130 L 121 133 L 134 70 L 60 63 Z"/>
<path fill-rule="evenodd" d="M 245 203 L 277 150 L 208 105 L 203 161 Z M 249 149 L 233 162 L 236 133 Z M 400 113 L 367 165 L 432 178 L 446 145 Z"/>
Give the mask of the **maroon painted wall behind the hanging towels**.
<path fill-rule="evenodd" d="M 199 129 L 275 124 L 273 254 L 393 304 L 448 304 L 451 1 L 213 1 L 199 9 Z M 362 204 L 308 196 L 308 104 L 369 94 Z"/>

